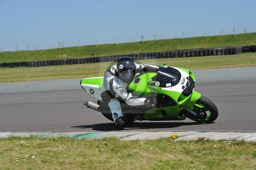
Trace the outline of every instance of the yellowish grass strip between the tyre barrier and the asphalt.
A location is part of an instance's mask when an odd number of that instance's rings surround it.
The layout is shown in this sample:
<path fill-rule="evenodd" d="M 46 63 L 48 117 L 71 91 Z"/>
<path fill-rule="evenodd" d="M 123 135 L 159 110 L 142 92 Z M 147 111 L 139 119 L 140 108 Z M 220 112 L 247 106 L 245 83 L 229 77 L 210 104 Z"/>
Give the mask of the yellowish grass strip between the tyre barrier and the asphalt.
<path fill-rule="evenodd" d="M 201 70 L 212 68 L 256 66 L 256 53 L 238 55 L 162 58 L 141 60 L 144 64 L 170 66 Z M 110 62 L 46 67 L 0 68 L 0 82 L 37 81 L 103 76 Z"/>

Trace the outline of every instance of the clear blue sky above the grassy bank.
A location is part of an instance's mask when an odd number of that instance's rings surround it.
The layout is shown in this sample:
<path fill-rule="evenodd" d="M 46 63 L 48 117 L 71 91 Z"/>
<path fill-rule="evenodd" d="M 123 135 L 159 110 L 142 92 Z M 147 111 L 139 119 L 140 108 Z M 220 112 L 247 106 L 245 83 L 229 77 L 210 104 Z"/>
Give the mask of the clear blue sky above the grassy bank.
<path fill-rule="evenodd" d="M 256 32 L 255 7 L 256 0 L 0 0 L 0 48 Z"/>

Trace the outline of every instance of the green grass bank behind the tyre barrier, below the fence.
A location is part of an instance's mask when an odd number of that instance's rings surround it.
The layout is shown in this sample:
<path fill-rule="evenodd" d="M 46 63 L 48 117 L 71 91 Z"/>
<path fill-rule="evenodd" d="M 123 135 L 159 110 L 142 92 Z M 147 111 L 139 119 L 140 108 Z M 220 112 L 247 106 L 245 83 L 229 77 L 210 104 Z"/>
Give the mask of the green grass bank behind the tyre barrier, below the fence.
<path fill-rule="evenodd" d="M 63 58 L 83 58 L 94 56 L 108 56 L 114 54 L 129 54 L 140 52 L 157 52 L 166 50 L 183 50 L 196 48 L 215 48 L 227 46 L 244 46 L 255 45 L 256 33 L 224 35 L 224 36 L 209 36 L 145 41 L 144 43 L 121 43 L 104 44 L 96 47 L 95 45 L 68 47 L 52 50 L 36 50 L 36 51 L 18 51 L 18 52 L 2 52 L 0 53 L 0 63 L 4 62 L 20 62 L 20 61 L 36 61 L 36 60 L 51 60 Z"/>

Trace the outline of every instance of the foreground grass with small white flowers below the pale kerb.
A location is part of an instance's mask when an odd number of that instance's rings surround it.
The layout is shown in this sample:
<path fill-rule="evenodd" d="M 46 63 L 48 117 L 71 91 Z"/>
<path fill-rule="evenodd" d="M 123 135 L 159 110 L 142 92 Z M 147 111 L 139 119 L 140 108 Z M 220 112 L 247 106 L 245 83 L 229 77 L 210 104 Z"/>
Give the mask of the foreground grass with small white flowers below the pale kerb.
<path fill-rule="evenodd" d="M 0 146 L 0 169 L 255 169 L 256 165 L 256 143 L 245 141 L 10 137 L 1 138 Z"/>

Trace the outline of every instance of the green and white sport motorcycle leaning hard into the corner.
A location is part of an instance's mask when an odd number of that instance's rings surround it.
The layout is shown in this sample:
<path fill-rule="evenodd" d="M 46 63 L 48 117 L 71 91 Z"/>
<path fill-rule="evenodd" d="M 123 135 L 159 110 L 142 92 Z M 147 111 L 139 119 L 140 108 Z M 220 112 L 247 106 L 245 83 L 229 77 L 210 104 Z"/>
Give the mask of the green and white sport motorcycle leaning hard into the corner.
<path fill-rule="evenodd" d="M 157 73 L 139 73 L 126 88 L 134 96 L 156 96 L 157 104 L 143 106 L 128 106 L 121 103 L 122 113 L 129 125 L 135 120 L 185 120 L 189 118 L 200 123 L 210 123 L 217 119 L 218 109 L 208 98 L 196 92 L 194 74 L 179 67 L 158 66 Z M 81 87 L 98 102 L 84 102 L 88 108 L 101 112 L 107 119 L 113 121 L 111 111 L 102 111 L 100 89 L 104 77 L 84 78 Z M 125 109 L 126 108 L 126 109 Z M 128 109 L 127 109 L 128 108 Z M 129 109 L 130 108 L 130 109 Z M 105 109 L 104 109 L 105 110 Z"/>

